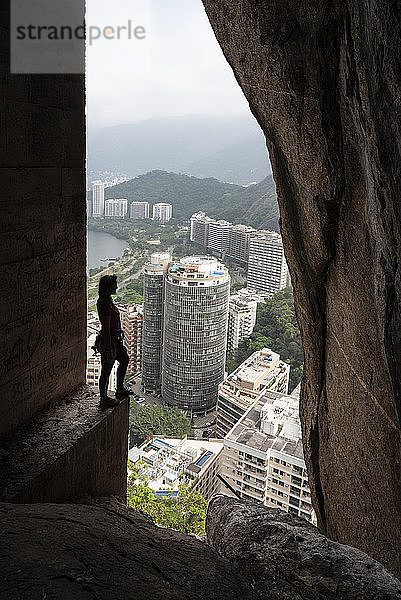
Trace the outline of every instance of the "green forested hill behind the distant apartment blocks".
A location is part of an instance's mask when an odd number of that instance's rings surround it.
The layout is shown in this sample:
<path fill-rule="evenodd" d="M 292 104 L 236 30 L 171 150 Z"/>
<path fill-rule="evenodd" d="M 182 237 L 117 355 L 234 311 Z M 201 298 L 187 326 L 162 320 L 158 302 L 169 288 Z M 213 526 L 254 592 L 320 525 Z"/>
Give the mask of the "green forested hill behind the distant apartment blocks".
<path fill-rule="evenodd" d="M 255 228 L 277 230 L 278 205 L 271 176 L 260 183 L 243 187 L 217 179 L 199 179 L 188 175 L 151 171 L 135 179 L 105 189 L 105 198 L 132 201 L 169 202 L 178 221 L 187 220 L 197 211 L 210 217 L 243 223 Z"/>

